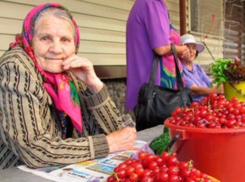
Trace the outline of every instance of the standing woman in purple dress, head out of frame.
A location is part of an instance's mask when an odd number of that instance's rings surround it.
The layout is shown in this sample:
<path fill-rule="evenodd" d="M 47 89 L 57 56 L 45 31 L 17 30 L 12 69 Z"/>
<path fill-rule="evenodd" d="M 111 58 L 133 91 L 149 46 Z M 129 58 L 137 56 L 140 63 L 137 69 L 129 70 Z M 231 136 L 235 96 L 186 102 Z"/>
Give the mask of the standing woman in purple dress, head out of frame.
<path fill-rule="evenodd" d="M 164 0 L 136 0 L 128 17 L 126 34 L 126 108 L 133 110 L 141 85 L 149 82 L 155 55 L 160 56 L 155 84 L 174 88 L 175 66 L 170 44 L 175 44 L 179 57 L 188 55 L 189 50 L 179 45 L 180 36 L 170 25 Z M 137 124 L 136 127 L 142 130 L 157 124 Z"/>

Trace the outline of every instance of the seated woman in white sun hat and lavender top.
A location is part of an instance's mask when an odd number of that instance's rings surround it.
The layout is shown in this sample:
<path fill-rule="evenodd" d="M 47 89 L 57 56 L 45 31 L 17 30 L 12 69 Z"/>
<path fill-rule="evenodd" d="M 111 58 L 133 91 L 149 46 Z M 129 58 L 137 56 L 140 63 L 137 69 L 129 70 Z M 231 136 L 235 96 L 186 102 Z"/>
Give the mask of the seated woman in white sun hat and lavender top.
<path fill-rule="evenodd" d="M 182 66 L 183 77 L 186 86 L 191 90 L 193 101 L 199 102 L 203 96 L 207 96 L 209 93 L 223 94 L 223 87 L 210 88 L 210 78 L 200 65 L 193 62 L 198 54 L 205 49 L 204 45 L 196 42 L 194 36 L 190 34 L 181 36 L 181 44 L 186 45 L 190 50 L 189 55 L 182 57 Z"/>

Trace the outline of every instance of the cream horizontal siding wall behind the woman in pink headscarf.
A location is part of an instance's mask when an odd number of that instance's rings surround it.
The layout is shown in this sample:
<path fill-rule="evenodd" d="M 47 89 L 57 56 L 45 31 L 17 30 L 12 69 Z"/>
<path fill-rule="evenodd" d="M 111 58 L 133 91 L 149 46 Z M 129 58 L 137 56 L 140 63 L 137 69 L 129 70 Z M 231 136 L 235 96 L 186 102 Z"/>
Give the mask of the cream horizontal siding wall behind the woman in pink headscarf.
<path fill-rule="evenodd" d="M 20 33 L 27 12 L 52 0 L 0 1 L 0 55 Z M 132 0 L 56 0 L 72 11 L 81 31 L 79 55 L 94 65 L 126 65 L 125 30 Z M 179 0 L 168 0 L 171 20 L 179 29 Z"/>

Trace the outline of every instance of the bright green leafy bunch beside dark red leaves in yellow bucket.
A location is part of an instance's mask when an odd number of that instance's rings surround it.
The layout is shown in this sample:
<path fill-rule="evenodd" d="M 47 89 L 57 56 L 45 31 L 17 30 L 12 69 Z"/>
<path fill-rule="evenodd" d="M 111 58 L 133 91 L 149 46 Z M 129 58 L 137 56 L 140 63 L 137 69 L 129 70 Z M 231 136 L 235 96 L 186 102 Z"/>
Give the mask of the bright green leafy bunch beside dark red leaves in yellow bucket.
<path fill-rule="evenodd" d="M 214 79 L 212 84 L 217 84 L 217 87 L 219 87 L 223 82 L 228 81 L 225 71 L 228 69 L 229 63 L 231 63 L 230 59 L 221 58 L 211 63 L 211 75 Z"/>

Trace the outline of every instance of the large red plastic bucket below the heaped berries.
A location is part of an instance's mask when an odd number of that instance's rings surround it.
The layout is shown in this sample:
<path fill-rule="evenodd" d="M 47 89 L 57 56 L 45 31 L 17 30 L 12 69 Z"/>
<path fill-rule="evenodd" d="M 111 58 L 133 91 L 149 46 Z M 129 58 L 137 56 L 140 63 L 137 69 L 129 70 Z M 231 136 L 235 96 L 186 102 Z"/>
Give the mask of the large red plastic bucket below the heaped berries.
<path fill-rule="evenodd" d="M 203 129 L 170 124 L 170 137 L 181 133 L 172 149 L 179 160 L 194 161 L 200 171 L 221 182 L 245 182 L 245 129 Z"/>

